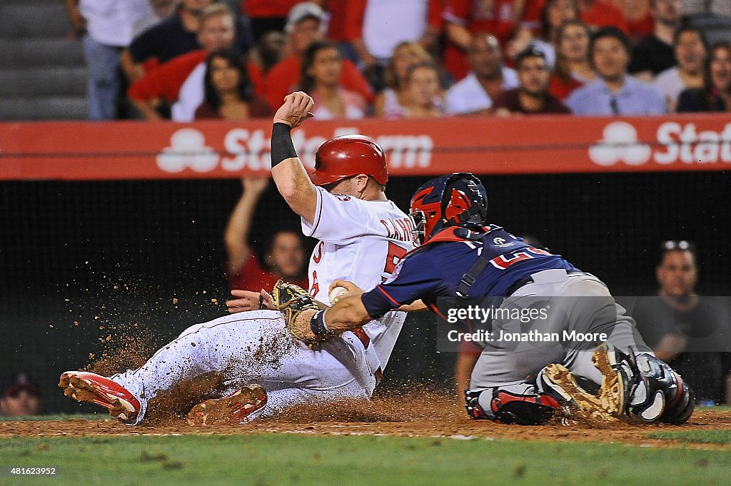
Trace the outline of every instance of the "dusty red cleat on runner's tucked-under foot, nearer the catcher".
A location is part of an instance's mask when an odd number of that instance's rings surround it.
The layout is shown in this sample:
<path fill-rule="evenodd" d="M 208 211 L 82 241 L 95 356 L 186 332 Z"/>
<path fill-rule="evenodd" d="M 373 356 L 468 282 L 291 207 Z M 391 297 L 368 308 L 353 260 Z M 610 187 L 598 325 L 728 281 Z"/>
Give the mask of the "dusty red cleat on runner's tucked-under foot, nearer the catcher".
<path fill-rule="evenodd" d="M 238 425 L 267 404 L 267 392 L 250 384 L 224 398 L 205 400 L 188 413 L 189 425 Z"/>

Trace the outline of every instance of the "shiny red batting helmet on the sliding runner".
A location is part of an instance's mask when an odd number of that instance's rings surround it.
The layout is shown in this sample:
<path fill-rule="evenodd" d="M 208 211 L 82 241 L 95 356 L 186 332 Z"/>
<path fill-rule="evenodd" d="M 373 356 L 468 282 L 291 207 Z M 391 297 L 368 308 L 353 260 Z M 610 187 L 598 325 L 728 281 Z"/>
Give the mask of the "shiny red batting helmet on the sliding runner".
<path fill-rule="evenodd" d="M 309 176 L 315 186 L 324 186 L 358 174 L 368 174 L 382 185 L 388 182 L 383 149 L 365 135 L 342 135 L 320 145 Z"/>

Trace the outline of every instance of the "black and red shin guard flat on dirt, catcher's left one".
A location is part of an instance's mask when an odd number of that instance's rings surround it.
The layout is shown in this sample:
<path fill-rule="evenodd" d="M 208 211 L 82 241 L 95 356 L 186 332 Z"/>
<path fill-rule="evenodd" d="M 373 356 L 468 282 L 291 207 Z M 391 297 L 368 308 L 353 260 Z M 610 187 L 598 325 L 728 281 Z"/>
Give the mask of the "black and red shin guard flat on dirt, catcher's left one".
<path fill-rule="evenodd" d="M 480 405 L 480 395 L 489 397 L 487 409 Z M 488 419 L 500 424 L 540 425 L 553 417 L 561 406 L 556 399 L 546 393 L 518 394 L 488 388 L 483 390 L 465 390 L 465 409 L 473 419 Z M 485 403 L 485 398 L 482 402 Z"/>

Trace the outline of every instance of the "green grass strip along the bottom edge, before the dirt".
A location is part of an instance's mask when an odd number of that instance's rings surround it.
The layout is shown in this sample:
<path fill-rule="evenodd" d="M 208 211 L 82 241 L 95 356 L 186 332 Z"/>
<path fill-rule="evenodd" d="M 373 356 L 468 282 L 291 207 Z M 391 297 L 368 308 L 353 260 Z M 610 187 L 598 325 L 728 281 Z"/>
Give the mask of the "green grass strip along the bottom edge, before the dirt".
<path fill-rule="evenodd" d="M 0 477 L 0 485 L 722 485 L 729 463 L 727 451 L 484 439 L 301 434 L 0 439 L 0 466 L 60 468 L 55 477 Z"/>

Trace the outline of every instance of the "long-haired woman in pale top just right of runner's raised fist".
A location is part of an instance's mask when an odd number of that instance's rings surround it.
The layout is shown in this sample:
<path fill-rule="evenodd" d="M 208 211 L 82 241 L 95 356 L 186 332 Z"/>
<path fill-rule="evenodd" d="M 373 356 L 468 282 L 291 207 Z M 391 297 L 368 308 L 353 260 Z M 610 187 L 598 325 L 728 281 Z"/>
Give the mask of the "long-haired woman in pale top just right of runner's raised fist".
<path fill-rule="evenodd" d="M 319 40 L 305 50 L 300 91 L 312 96 L 316 120 L 366 116 L 366 99 L 340 85 L 342 70 L 343 58 L 333 42 Z"/>

